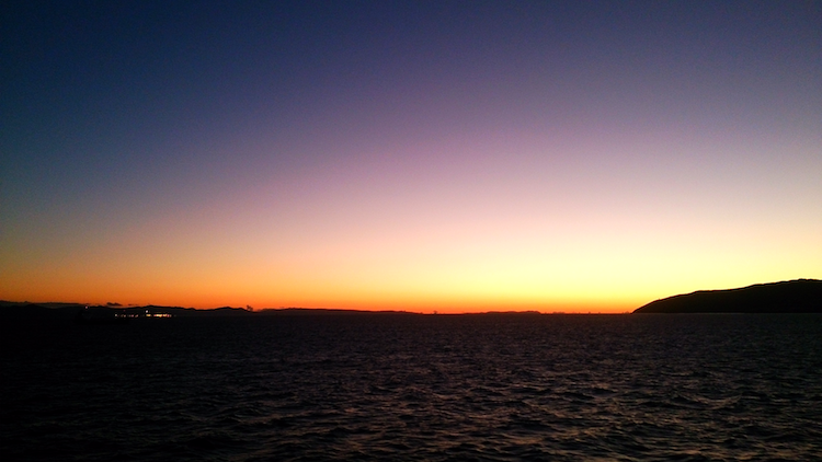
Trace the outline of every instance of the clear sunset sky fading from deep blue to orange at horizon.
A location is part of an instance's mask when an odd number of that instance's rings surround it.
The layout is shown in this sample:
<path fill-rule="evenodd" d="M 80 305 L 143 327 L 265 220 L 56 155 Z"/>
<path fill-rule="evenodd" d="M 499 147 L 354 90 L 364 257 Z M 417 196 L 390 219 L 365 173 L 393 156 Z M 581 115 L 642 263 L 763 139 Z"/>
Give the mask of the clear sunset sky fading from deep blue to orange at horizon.
<path fill-rule="evenodd" d="M 626 312 L 822 278 L 820 1 L 5 1 L 0 299 Z"/>

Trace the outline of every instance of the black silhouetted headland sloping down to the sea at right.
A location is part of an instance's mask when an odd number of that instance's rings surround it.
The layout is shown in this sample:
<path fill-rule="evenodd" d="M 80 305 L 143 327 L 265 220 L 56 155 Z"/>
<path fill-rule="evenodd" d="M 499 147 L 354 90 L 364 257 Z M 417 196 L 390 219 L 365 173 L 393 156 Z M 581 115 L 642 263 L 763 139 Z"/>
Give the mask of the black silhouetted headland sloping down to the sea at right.
<path fill-rule="evenodd" d="M 822 280 L 797 279 L 699 290 L 652 301 L 635 313 L 822 313 Z"/>

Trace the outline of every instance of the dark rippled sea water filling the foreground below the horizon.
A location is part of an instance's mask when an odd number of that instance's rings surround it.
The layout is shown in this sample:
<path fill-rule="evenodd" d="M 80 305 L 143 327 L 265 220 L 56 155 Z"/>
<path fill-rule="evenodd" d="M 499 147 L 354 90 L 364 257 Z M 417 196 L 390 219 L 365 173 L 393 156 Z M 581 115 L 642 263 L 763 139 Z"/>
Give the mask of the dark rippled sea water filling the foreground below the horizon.
<path fill-rule="evenodd" d="M 0 328 L 3 460 L 822 459 L 821 315 Z"/>

